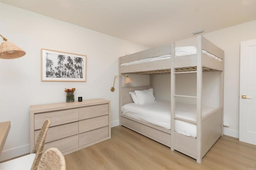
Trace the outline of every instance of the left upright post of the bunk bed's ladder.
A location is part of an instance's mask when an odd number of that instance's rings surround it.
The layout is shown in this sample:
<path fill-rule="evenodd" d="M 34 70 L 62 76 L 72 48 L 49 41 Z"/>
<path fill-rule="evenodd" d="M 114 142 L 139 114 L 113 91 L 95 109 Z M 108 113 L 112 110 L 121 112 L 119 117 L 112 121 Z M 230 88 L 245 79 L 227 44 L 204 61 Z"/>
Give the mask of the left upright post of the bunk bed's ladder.
<path fill-rule="evenodd" d="M 175 43 L 171 43 L 171 150 L 174 150 L 174 131 L 175 131 L 175 69 L 174 69 L 174 56 L 175 56 Z"/>

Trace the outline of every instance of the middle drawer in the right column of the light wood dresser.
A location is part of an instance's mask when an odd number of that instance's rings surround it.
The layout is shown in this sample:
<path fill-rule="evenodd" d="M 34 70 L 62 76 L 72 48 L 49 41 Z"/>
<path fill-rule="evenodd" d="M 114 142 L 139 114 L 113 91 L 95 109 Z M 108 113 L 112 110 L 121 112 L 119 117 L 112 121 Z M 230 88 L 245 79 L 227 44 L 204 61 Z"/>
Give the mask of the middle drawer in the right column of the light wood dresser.
<path fill-rule="evenodd" d="M 108 115 L 80 120 L 78 122 L 78 132 L 83 133 L 104 126 L 108 126 Z"/>

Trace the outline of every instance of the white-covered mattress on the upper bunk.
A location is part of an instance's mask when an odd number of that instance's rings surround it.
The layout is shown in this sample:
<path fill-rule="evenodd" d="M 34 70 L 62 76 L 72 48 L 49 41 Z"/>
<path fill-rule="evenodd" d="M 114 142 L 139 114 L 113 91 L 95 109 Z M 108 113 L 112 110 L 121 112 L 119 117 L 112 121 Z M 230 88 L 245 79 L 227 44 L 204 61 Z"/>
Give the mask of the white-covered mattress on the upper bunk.
<path fill-rule="evenodd" d="M 195 46 L 176 47 L 175 48 L 175 57 L 196 54 L 196 50 L 197 49 Z M 212 55 L 205 50 L 202 50 L 202 52 L 203 52 L 203 54 L 205 54 L 208 57 L 216 59 L 217 61 L 222 61 L 222 59 L 220 59 L 219 57 L 216 57 L 215 55 Z M 162 56 L 152 57 L 152 58 L 148 58 L 148 59 L 131 61 L 128 63 L 122 63 L 121 66 L 128 66 L 128 65 L 140 64 L 140 63 L 148 63 L 148 62 L 152 62 L 152 61 L 158 61 L 158 60 L 164 60 L 164 59 L 170 59 L 170 58 L 171 58 L 171 55 L 168 54 L 168 55 L 162 55 Z"/>

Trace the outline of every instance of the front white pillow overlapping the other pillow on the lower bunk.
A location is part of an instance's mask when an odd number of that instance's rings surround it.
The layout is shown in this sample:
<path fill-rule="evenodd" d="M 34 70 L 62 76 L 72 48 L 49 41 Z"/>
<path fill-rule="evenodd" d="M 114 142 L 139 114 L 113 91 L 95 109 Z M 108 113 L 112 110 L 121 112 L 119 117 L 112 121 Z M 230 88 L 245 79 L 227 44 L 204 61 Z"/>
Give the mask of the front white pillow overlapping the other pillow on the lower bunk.
<path fill-rule="evenodd" d="M 154 102 L 156 100 L 156 98 L 154 97 L 152 88 L 148 90 L 135 90 L 134 92 L 137 96 L 137 100 L 139 104 L 147 104 L 150 102 Z"/>

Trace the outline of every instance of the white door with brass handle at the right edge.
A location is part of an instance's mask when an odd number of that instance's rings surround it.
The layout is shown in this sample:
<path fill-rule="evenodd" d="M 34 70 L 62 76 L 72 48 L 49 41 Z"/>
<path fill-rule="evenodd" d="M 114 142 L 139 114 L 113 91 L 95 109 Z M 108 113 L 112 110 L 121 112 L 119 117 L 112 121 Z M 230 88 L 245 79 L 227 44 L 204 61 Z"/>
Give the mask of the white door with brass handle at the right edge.
<path fill-rule="evenodd" d="M 256 145 L 256 39 L 241 42 L 239 141 Z"/>

